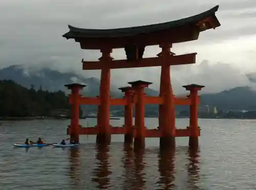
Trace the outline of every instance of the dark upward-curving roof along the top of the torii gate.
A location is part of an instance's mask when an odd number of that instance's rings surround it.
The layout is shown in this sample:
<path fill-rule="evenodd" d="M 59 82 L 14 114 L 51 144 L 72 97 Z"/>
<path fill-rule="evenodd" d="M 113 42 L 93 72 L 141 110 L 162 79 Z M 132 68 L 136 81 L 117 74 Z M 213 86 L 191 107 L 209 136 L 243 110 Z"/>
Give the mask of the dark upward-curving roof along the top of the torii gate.
<path fill-rule="evenodd" d="M 207 17 L 215 16 L 215 12 L 218 11 L 219 6 L 215 6 L 214 8 L 200 13 L 198 15 L 182 18 L 179 20 L 151 24 L 151 25 L 142 25 L 128 28 L 119 28 L 119 29 L 81 29 L 76 28 L 69 25 L 70 31 L 64 35 L 63 37 L 70 38 L 118 38 L 118 37 L 128 37 L 135 36 L 139 34 L 147 34 L 162 30 L 168 30 L 172 28 L 176 28 L 178 26 L 183 26 L 187 24 L 197 23 Z M 218 21 L 216 27 L 220 26 Z"/>

